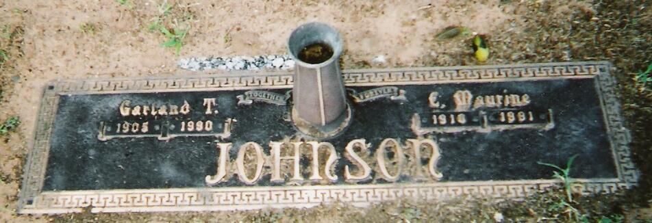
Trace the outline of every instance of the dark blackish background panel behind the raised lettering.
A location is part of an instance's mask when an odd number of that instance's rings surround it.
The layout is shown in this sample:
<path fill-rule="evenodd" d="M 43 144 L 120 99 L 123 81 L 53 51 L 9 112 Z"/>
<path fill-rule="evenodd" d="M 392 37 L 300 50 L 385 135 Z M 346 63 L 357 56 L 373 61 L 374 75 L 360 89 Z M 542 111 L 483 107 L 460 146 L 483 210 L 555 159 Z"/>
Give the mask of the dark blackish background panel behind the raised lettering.
<path fill-rule="evenodd" d="M 438 142 L 441 159 L 441 181 L 501 181 L 518 179 L 550 179 L 552 170 L 538 165 L 545 161 L 563 166 L 566 160 L 579 155 L 573 163 L 571 176 L 576 178 L 616 178 L 616 167 L 610 143 L 607 140 L 603 109 L 594 79 L 556 79 L 495 83 L 447 83 L 437 85 L 397 86 L 406 91 L 408 103 L 389 100 L 353 104 L 353 122 L 342 135 L 325 140 L 338 150 L 340 159 L 336 172 L 342 181 L 344 146 L 351 140 L 364 138 L 371 143 L 372 154 L 379 143 L 388 137 L 401 143 L 415 138 L 410 130 L 413 114 L 421 115 L 423 127 L 429 125 L 433 113 L 428 106 L 432 91 L 441 95 L 440 101 L 452 112 L 452 96 L 456 90 L 471 90 L 474 95 L 529 94 L 531 105 L 524 107 L 542 112 L 552 109 L 555 127 L 548 131 L 513 129 L 480 133 L 431 133 Z M 354 87 L 357 92 L 373 87 Z M 285 94 L 289 89 L 269 90 Z M 266 154 L 268 143 L 281 141 L 297 134 L 286 117 L 286 106 L 253 103 L 237 105 L 236 96 L 244 91 L 218 92 L 161 92 L 133 94 L 79 94 L 60 97 L 43 191 L 77 189 L 135 189 L 168 187 L 203 187 L 204 177 L 215 174 L 217 151 L 212 136 L 174 137 L 159 140 L 156 137 L 114 138 L 98 140 L 100 123 L 110 128 L 118 122 L 149 121 L 153 125 L 179 123 L 182 120 L 212 120 L 214 132 L 221 132 L 226 118 L 234 118 L 231 137 L 221 142 L 233 142 L 231 159 L 245 142 L 257 142 Z M 215 98 L 216 115 L 205 115 L 204 98 Z M 190 104 L 187 115 L 139 118 L 121 118 L 118 106 L 123 100 L 131 105 Z M 491 111 L 488 111 L 491 112 Z M 176 126 L 178 129 L 179 127 Z M 113 129 L 115 130 L 115 129 Z M 174 133 L 172 131 L 171 133 Z M 178 132 L 177 132 L 178 133 Z M 303 160 L 308 169 L 308 159 Z M 308 178 L 308 172 L 305 172 Z M 285 185 L 268 183 L 269 175 L 258 185 Z M 410 176 L 402 177 L 410 182 Z M 385 183 L 381 180 L 367 183 Z M 237 177 L 215 187 L 243 185 Z"/>

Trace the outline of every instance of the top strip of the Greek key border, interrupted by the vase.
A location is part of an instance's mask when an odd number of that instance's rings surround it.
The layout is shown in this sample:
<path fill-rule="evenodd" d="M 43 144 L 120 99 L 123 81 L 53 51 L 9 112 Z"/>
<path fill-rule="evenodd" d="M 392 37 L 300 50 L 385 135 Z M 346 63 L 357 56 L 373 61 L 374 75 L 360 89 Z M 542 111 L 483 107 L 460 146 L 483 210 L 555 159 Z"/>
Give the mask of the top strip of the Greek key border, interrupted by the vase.
<path fill-rule="evenodd" d="M 572 78 L 608 72 L 607 62 L 516 64 L 513 66 L 457 66 L 342 70 L 347 86 L 432 84 L 465 81 L 514 81 L 542 78 Z M 104 94 L 120 92 L 165 92 L 180 90 L 234 90 L 292 88 L 292 73 L 231 73 L 219 75 L 140 78 L 86 79 L 53 83 L 55 92 Z"/>

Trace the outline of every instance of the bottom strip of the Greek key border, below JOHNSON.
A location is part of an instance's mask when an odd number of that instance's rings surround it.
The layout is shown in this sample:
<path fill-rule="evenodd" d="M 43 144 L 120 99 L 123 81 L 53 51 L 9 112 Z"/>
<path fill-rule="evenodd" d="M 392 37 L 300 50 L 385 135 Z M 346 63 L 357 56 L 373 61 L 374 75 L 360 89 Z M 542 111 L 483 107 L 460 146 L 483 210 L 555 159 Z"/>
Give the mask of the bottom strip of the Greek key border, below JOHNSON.
<path fill-rule="evenodd" d="M 44 192 L 20 213 L 70 213 L 91 207 L 92 212 L 124 211 L 225 211 L 278 207 L 314 207 L 347 202 L 369 205 L 399 199 L 444 200 L 464 194 L 497 199 L 523 198 L 558 185 L 555 180 L 497 181 L 490 183 L 427 183 L 394 185 L 346 185 L 309 187 L 195 188 Z M 617 181 L 584 180 L 575 192 L 612 193 L 626 187 Z"/>

